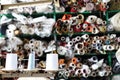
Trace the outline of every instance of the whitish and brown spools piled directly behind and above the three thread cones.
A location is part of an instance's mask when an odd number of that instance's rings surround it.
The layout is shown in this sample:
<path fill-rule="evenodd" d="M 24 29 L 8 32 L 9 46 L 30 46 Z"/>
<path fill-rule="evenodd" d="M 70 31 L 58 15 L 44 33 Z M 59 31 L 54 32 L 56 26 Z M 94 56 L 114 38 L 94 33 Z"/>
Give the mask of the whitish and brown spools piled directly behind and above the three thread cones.
<path fill-rule="evenodd" d="M 0 40 L 1 52 L 15 52 L 19 58 L 24 58 L 31 52 L 35 52 L 36 56 L 41 57 L 44 52 L 51 52 L 56 49 L 54 40 L 49 42 L 35 39 L 21 40 L 18 37 L 9 37 L 6 40 L 1 38 Z"/>

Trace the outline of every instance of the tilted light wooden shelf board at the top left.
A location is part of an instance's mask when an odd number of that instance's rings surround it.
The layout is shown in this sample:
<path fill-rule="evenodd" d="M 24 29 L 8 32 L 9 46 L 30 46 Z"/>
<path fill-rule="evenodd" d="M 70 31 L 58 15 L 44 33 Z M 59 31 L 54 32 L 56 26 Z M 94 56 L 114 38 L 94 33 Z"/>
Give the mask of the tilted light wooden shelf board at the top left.
<path fill-rule="evenodd" d="M 9 9 L 10 7 L 38 5 L 40 3 L 46 3 L 46 2 L 51 2 L 51 0 L 40 0 L 40 1 L 35 1 L 35 2 L 16 3 L 16 4 L 4 4 L 4 5 L 1 5 L 1 7 L 2 7 L 2 10 L 5 10 L 5 9 Z"/>

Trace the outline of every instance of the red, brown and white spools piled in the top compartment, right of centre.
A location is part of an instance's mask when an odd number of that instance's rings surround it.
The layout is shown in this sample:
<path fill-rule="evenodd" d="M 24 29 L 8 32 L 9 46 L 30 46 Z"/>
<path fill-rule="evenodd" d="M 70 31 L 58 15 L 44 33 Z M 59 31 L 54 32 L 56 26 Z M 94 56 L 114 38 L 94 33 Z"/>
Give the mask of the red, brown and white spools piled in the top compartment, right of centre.
<path fill-rule="evenodd" d="M 110 0 L 54 0 L 57 12 L 106 11 Z"/>

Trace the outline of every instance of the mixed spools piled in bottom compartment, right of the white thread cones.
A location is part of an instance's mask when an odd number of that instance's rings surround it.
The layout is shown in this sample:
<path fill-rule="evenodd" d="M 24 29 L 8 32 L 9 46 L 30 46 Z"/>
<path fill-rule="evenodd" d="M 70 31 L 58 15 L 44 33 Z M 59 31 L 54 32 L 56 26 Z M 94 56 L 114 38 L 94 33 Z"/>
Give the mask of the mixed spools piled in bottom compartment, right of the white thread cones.
<path fill-rule="evenodd" d="M 68 77 L 85 77 L 88 76 L 109 76 L 112 74 L 111 67 L 108 66 L 104 59 L 98 59 L 96 56 L 82 60 L 81 58 L 72 58 L 65 63 L 65 59 L 59 60 L 59 68 L 64 71 L 59 71 L 59 78 L 68 79 Z"/>

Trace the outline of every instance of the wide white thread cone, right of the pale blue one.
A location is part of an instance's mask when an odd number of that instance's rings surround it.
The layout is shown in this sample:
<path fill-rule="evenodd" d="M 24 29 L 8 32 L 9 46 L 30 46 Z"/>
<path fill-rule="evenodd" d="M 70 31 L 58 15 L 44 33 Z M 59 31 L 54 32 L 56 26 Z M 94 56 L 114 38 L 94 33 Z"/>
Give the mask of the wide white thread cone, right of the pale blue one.
<path fill-rule="evenodd" d="M 47 54 L 46 70 L 48 71 L 58 70 L 58 54 Z"/>

